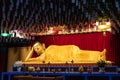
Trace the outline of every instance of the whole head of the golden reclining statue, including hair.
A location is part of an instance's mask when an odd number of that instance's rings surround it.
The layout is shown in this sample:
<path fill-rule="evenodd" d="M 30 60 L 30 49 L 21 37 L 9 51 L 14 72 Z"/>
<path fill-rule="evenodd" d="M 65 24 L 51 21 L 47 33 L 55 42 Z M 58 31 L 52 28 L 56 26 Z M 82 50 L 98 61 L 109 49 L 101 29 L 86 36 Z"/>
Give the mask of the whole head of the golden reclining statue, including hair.
<path fill-rule="evenodd" d="M 41 55 L 45 51 L 45 44 L 40 43 L 40 42 L 36 42 L 33 45 L 33 49 L 37 53 L 37 55 Z"/>

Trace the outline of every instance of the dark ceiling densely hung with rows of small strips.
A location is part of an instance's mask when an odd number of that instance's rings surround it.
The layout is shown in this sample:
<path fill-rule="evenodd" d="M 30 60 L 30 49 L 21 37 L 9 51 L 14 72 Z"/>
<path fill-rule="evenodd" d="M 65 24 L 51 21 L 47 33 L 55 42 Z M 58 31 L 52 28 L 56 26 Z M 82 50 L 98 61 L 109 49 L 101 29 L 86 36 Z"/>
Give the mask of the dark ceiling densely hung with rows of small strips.
<path fill-rule="evenodd" d="M 1 32 L 40 32 L 45 25 L 79 25 L 99 17 L 111 19 L 112 30 L 118 33 L 120 0 L 0 0 Z"/>

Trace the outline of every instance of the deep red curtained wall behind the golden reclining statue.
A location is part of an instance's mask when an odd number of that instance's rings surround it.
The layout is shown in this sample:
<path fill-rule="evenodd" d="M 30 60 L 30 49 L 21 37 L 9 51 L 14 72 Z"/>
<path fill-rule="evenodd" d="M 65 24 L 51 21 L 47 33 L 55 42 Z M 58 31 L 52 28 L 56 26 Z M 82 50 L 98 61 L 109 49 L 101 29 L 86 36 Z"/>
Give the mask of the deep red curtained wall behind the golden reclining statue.
<path fill-rule="evenodd" d="M 120 65 L 120 34 L 113 35 L 110 32 L 93 32 L 82 34 L 67 34 L 67 35 L 46 35 L 37 36 L 35 41 L 44 42 L 46 47 L 55 45 L 74 44 L 80 49 L 99 50 L 107 49 L 107 60 L 114 61 L 115 64 Z"/>

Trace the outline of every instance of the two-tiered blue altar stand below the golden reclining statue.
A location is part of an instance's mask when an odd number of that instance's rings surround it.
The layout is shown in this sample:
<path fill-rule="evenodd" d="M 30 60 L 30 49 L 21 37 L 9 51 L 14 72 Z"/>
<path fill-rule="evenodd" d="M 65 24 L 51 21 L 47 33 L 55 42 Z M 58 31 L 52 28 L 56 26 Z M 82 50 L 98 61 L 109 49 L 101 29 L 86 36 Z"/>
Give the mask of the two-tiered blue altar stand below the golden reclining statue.
<path fill-rule="evenodd" d="M 37 66 L 38 67 L 38 66 Z M 117 66 L 106 66 L 106 71 L 105 73 L 99 73 L 97 71 L 98 67 L 97 66 L 93 66 L 91 67 L 91 72 L 87 72 L 87 70 L 85 70 L 84 72 L 79 72 L 77 71 L 79 66 L 57 66 L 57 67 L 53 67 L 53 66 L 42 66 L 40 67 L 41 69 L 46 69 L 46 70 L 41 70 L 41 71 L 12 71 L 12 72 L 2 72 L 2 78 L 1 80 L 13 80 L 13 76 L 27 76 L 27 75 L 32 75 L 33 77 L 49 77 L 49 76 L 62 76 L 63 80 L 68 80 L 68 78 L 71 77 L 80 77 L 80 79 L 77 80 L 81 80 L 81 77 L 83 78 L 82 80 L 96 80 L 96 79 L 90 79 L 91 77 L 95 78 L 95 77 L 103 77 L 105 80 L 120 80 L 120 73 L 118 73 L 118 67 Z M 86 69 L 86 66 L 83 66 L 84 69 Z M 48 71 L 47 69 L 50 68 L 52 69 L 63 69 L 61 71 Z M 71 69 L 74 69 L 73 71 Z M 66 71 L 67 70 L 67 71 Z M 109 71 L 110 70 L 110 71 Z M 111 71 L 112 70 L 112 71 Z M 103 80 L 104 80 L 103 79 Z M 72 80 L 72 79 L 71 79 Z M 98 79 L 97 79 L 98 80 Z"/>

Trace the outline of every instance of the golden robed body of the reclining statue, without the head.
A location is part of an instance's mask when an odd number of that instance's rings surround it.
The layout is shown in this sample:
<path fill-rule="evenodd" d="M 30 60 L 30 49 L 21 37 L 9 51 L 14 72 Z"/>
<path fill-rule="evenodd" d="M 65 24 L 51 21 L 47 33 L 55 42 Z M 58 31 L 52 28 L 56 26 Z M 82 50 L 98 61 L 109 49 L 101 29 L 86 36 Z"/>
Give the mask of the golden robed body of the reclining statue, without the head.
<path fill-rule="evenodd" d="M 45 63 L 90 63 L 97 62 L 100 59 L 105 60 L 105 51 L 90 51 L 90 50 L 80 50 L 79 47 L 75 45 L 51 45 L 45 52 L 39 56 L 39 59 L 43 59 Z"/>

